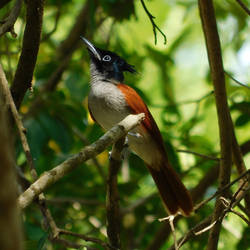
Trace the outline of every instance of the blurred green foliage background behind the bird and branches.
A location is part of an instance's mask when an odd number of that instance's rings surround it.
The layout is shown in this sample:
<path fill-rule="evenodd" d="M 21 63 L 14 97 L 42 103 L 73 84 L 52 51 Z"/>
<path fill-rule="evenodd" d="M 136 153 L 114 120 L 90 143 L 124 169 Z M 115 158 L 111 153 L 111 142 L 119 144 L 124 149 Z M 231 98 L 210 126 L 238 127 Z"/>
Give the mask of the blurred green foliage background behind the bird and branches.
<path fill-rule="evenodd" d="M 1 9 L 1 19 L 12 8 L 12 2 Z M 249 0 L 245 2 L 250 5 Z M 26 94 L 20 108 L 39 174 L 103 134 L 87 110 L 89 57 L 79 35 L 135 65 L 138 74 L 127 74 L 125 83 L 135 88 L 147 103 L 162 132 L 169 158 L 189 189 L 216 165 L 214 160 L 177 152 L 183 149 L 219 157 L 213 86 L 197 1 L 152 0 L 145 4 L 166 34 L 167 44 L 158 32 L 155 45 L 151 23 L 139 0 L 45 2 L 33 91 Z M 216 0 L 214 4 L 225 70 L 247 84 L 250 80 L 249 17 L 234 0 Z M 78 17 L 83 12 L 85 14 Z M 78 29 L 72 31 L 78 21 Z M 0 60 L 10 83 L 21 51 L 24 27 L 23 7 L 15 25 L 17 38 L 7 34 L 0 40 Z M 228 76 L 226 84 L 241 145 L 250 139 L 250 91 Z M 18 137 L 15 146 L 17 164 L 30 179 Z M 249 154 L 245 161 L 249 165 Z M 108 151 L 46 190 L 49 208 L 59 227 L 106 240 L 104 178 L 107 165 Z M 236 178 L 235 168 L 233 173 Z M 199 200 L 211 195 L 216 188 L 217 183 L 211 183 Z M 157 219 L 166 215 L 143 162 L 133 154 L 125 158 L 120 171 L 119 193 L 124 211 L 121 231 L 124 249 L 150 249 L 162 228 Z M 142 205 L 127 209 L 145 197 L 148 199 Z M 213 205 L 214 201 L 193 217 L 180 220 L 177 237 L 210 215 Z M 47 239 L 48 232 L 36 205 L 25 210 L 23 220 L 26 249 L 62 249 Z M 230 214 L 223 222 L 219 249 L 249 249 L 249 235 L 247 225 Z M 207 236 L 205 233 L 196 237 L 182 249 L 204 249 Z M 93 243 L 76 242 L 101 249 Z M 172 243 L 169 237 L 155 249 L 167 249 Z"/>

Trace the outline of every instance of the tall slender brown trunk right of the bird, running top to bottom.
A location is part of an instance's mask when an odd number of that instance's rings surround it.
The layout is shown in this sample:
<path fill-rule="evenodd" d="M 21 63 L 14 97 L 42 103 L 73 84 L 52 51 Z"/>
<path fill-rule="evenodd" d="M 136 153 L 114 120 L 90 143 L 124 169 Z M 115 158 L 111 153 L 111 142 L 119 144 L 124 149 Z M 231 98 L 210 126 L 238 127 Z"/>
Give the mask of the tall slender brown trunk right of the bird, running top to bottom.
<path fill-rule="evenodd" d="M 212 0 L 199 0 L 199 11 L 202 21 L 202 28 L 206 40 L 207 54 L 211 70 L 211 77 L 214 85 L 215 102 L 219 122 L 221 161 L 219 173 L 219 188 L 230 182 L 232 165 L 232 126 L 230 123 L 230 113 L 227 104 L 227 94 L 225 87 L 225 76 L 221 55 L 219 34 L 216 25 Z M 222 193 L 226 196 L 226 193 Z M 213 221 L 216 221 L 223 212 L 223 206 L 217 198 Z M 209 234 L 208 250 L 217 249 L 221 223 L 216 223 Z"/>

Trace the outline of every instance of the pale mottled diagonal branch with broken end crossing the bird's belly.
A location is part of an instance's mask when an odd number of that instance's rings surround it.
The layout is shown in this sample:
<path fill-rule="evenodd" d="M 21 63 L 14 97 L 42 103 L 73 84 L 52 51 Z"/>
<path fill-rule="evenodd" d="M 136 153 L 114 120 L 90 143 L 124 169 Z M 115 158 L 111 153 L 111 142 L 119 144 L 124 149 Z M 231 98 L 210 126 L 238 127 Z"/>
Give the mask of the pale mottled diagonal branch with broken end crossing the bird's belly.
<path fill-rule="evenodd" d="M 99 140 L 83 148 L 78 154 L 73 155 L 50 171 L 43 173 L 36 182 L 19 196 L 18 202 L 20 207 L 27 207 L 46 188 L 57 182 L 84 161 L 103 152 L 108 146 L 125 136 L 129 130 L 136 127 L 143 119 L 144 114 L 127 116 L 119 124 L 99 138 Z"/>

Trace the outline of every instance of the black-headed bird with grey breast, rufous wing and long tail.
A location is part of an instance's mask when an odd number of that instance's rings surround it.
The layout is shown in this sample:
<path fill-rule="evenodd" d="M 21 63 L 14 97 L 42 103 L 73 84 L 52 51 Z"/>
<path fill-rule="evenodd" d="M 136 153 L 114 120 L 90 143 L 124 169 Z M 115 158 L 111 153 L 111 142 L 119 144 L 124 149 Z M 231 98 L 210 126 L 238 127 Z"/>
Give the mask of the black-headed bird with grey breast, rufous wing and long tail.
<path fill-rule="evenodd" d="M 109 130 L 130 114 L 145 114 L 142 123 L 127 134 L 128 146 L 144 161 L 166 212 L 170 216 L 189 216 L 193 211 L 190 193 L 167 157 L 160 130 L 139 94 L 124 83 L 124 72 L 135 73 L 135 67 L 85 37 L 81 36 L 81 40 L 90 56 L 90 116 L 104 130 Z"/>

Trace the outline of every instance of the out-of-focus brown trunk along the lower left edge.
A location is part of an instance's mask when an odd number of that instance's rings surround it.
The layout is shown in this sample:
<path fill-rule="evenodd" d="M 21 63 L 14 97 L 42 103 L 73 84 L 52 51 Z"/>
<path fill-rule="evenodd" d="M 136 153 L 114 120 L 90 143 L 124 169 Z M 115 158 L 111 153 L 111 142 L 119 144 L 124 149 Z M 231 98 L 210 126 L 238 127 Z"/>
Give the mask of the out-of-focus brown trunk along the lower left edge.
<path fill-rule="evenodd" d="M 1 78 L 0 78 L 1 81 Z M 1 93 L 1 92 L 0 92 Z M 2 94 L 2 93 L 1 93 Z M 11 135 L 7 127 L 7 115 L 4 112 L 0 94 L 0 244 L 1 249 L 21 250 L 20 214 L 17 207 L 17 182 L 13 164 Z M 6 111 L 6 110 L 5 110 Z"/>

